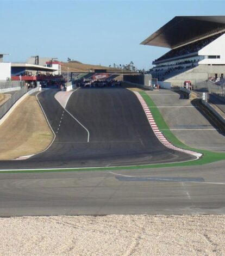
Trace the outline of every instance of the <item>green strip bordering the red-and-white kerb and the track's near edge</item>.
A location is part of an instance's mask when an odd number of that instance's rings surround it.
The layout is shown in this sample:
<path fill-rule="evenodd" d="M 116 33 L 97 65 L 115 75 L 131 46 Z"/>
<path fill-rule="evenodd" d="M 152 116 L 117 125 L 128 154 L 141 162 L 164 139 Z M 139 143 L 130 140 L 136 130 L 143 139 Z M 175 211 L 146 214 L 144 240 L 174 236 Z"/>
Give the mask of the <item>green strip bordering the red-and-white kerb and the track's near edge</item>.
<path fill-rule="evenodd" d="M 128 169 L 146 169 L 146 168 L 160 168 L 160 167 L 178 167 L 178 166 L 198 166 L 202 164 L 217 162 L 221 160 L 225 160 L 225 153 L 216 153 L 211 152 L 208 150 L 199 150 L 195 148 L 188 147 L 184 143 L 180 142 L 173 133 L 170 131 L 169 127 L 167 126 L 166 122 L 164 121 L 159 109 L 155 105 L 154 101 L 151 97 L 145 92 L 139 92 L 145 102 L 147 103 L 152 115 L 154 117 L 155 123 L 157 123 L 159 130 L 164 134 L 164 136 L 170 141 L 173 145 L 178 148 L 189 149 L 196 151 L 198 153 L 202 153 L 203 156 L 195 161 L 189 162 L 181 162 L 181 163 L 162 163 L 162 164 L 147 164 L 147 165 L 137 165 L 137 166 L 122 166 L 122 167 L 93 167 L 93 168 L 72 168 L 72 169 L 45 169 L 45 170 L 9 170 L 9 171 L 2 171 L 0 173 L 30 173 L 30 172 L 74 172 L 74 171 L 93 171 L 93 170 L 128 170 Z"/>

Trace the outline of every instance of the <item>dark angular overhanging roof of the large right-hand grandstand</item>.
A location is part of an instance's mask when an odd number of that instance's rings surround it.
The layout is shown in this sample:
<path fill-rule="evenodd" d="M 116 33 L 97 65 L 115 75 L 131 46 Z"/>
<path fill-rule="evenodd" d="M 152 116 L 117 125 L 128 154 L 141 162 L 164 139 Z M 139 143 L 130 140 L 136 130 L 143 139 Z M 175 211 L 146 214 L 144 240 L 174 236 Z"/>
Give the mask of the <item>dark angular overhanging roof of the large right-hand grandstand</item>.
<path fill-rule="evenodd" d="M 225 16 L 176 16 L 141 44 L 176 48 L 222 31 Z"/>

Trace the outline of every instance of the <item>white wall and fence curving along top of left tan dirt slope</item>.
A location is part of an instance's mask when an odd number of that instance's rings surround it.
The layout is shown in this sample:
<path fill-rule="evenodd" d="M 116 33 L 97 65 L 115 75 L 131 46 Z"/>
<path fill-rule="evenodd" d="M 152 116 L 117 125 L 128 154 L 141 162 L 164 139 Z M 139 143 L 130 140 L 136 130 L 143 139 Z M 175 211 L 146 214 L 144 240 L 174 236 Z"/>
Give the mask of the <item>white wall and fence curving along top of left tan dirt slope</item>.
<path fill-rule="evenodd" d="M 30 94 L 34 92 L 38 92 L 39 88 L 34 88 L 32 90 L 29 90 L 27 92 L 27 87 L 21 88 L 19 92 L 20 94 L 15 93 L 14 95 L 17 95 L 12 97 L 5 102 L 1 107 L 0 107 L 0 125 L 3 124 L 3 122 L 9 117 L 9 115 L 14 111 L 14 109 Z"/>

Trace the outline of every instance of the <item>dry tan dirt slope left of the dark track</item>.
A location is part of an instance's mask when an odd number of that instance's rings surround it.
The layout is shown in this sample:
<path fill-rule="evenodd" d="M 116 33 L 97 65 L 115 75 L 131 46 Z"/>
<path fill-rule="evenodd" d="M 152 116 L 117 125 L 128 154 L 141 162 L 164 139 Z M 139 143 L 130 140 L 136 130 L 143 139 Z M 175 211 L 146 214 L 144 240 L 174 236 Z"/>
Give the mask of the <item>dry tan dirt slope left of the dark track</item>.
<path fill-rule="evenodd" d="M 46 149 L 53 134 L 35 96 L 27 96 L 0 125 L 0 160 Z"/>

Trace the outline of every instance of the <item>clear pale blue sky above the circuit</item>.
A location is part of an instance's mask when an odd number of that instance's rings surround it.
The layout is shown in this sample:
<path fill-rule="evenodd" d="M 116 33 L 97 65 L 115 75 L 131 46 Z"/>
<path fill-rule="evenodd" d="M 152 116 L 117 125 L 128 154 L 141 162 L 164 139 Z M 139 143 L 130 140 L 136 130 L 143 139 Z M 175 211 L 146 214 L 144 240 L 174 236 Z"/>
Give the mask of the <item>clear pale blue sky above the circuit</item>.
<path fill-rule="evenodd" d="M 225 1 L 0 0 L 0 53 L 5 61 L 67 57 L 87 64 L 151 68 L 167 48 L 140 42 L 174 16 L 224 15 Z"/>

